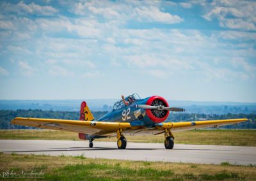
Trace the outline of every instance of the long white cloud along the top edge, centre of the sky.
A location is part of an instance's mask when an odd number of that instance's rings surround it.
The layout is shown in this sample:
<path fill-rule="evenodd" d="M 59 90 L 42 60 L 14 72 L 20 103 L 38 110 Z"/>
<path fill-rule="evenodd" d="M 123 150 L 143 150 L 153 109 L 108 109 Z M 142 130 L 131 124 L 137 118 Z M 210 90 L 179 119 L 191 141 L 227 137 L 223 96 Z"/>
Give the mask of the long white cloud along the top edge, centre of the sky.
<path fill-rule="evenodd" d="M 85 3 L 77 3 L 71 11 L 87 17 L 90 17 L 88 15 L 88 11 L 90 11 L 93 15 L 117 19 L 119 22 L 139 20 L 141 22 L 175 24 L 183 21 L 178 15 L 163 12 L 160 8 L 161 1 L 85 1 Z"/>

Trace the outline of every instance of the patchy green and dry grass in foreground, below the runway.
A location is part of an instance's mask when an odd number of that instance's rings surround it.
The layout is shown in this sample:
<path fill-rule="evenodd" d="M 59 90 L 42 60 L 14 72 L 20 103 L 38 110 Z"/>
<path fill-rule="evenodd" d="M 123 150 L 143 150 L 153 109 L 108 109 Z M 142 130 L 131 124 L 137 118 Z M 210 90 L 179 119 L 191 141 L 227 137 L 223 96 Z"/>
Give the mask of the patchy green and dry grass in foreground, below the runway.
<path fill-rule="evenodd" d="M 1 154 L 0 179 L 5 179 L 3 172 L 8 170 L 42 171 L 43 180 L 256 180 L 256 168 L 252 166 L 83 158 Z"/>

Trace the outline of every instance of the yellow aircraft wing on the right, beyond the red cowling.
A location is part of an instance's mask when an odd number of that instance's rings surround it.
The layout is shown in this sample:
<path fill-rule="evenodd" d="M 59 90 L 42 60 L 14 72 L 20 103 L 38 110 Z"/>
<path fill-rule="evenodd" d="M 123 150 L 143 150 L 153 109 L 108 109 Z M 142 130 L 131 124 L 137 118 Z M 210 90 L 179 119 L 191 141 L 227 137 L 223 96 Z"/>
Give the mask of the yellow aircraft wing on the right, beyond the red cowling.
<path fill-rule="evenodd" d="M 201 129 L 207 127 L 218 127 L 229 124 L 237 124 L 244 122 L 248 119 L 225 119 L 225 120 L 203 120 L 191 122 L 164 122 L 163 125 L 159 124 L 158 129 L 171 129 L 173 132 L 188 131 L 191 129 Z"/>

